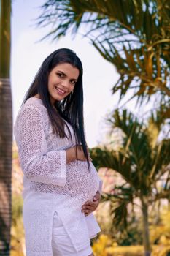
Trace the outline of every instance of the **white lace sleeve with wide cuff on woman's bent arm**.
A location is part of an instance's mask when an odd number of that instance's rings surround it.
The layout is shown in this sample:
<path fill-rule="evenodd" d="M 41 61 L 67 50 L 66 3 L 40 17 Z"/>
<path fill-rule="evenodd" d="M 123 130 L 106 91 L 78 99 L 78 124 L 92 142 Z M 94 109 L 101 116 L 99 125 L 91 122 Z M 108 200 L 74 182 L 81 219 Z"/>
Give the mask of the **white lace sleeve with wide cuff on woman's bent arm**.
<path fill-rule="evenodd" d="M 15 127 L 15 139 L 23 173 L 31 181 L 64 186 L 66 151 L 47 151 L 42 113 L 26 107 Z"/>

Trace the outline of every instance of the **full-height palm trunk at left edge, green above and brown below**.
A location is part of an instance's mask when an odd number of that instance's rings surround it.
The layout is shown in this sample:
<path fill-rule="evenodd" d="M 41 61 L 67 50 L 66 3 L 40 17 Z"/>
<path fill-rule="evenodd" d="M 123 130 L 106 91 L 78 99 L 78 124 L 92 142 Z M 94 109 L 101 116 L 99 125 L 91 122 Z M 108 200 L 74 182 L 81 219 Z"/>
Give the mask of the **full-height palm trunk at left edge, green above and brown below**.
<path fill-rule="evenodd" d="M 0 8 L 0 255 L 9 256 L 12 173 L 12 99 L 9 79 L 10 1 L 1 0 Z"/>

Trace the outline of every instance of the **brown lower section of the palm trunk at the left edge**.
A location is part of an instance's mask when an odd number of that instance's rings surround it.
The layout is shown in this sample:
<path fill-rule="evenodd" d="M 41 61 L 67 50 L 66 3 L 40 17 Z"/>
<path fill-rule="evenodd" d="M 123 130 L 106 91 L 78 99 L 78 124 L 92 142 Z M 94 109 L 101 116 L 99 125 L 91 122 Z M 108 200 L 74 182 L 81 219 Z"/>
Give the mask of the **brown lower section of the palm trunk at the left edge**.
<path fill-rule="evenodd" d="M 9 255 L 11 226 L 12 102 L 9 79 L 0 78 L 0 255 Z"/>

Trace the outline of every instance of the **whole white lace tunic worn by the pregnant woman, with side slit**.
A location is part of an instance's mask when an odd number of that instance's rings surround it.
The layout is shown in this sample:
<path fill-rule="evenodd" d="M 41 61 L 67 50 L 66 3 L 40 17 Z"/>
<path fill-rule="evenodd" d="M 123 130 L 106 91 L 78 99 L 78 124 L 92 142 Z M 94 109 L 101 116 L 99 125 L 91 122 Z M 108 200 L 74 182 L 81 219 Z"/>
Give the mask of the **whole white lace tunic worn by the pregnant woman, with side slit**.
<path fill-rule="evenodd" d="M 68 124 L 68 123 L 67 123 Z M 81 212 L 82 204 L 92 200 L 101 181 L 90 162 L 66 164 L 66 149 L 75 146 L 72 139 L 53 133 L 47 109 L 41 99 L 31 97 L 20 108 L 14 135 L 23 176 L 23 224 L 26 251 L 29 256 L 52 256 L 51 236 L 53 215 L 60 215 L 76 250 L 89 244 L 100 228 L 90 214 Z"/>

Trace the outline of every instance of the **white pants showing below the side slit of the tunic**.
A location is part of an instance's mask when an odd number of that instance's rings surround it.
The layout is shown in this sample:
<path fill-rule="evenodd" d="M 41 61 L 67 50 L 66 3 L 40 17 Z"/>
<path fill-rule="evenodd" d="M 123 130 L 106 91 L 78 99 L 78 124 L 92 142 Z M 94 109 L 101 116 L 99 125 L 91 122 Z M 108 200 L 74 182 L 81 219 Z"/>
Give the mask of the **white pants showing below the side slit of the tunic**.
<path fill-rule="evenodd" d="M 56 211 L 53 216 L 52 249 L 53 256 L 88 256 L 93 252 L 90 245 L 88 247 L 85 246 L 79 252 L 74 249 L 72 241 Z"/>

